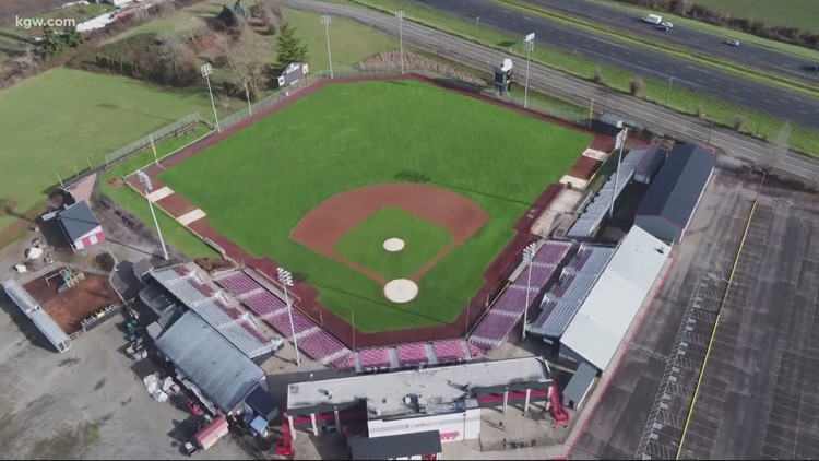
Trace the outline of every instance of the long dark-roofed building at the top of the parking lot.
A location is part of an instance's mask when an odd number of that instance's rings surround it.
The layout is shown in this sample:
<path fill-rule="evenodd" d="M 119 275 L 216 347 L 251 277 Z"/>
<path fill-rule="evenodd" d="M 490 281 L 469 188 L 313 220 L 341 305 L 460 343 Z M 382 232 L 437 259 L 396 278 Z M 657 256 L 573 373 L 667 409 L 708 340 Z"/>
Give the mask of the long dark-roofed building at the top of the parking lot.
<path fill-rule="evenodd" d="M 672 149 L 640 202 L 634 224 L 661 240 L 680 241 L 715 166 L 714 154 L 700 146 Z"/>

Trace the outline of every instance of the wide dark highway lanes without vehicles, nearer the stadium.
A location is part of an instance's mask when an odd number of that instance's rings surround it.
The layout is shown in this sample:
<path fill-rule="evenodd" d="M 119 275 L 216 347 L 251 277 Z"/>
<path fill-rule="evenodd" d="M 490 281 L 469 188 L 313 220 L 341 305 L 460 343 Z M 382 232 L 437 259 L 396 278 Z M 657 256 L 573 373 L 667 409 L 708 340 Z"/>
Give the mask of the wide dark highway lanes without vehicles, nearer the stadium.
<path fill-rule="evenodd" d="M 696 64 L 641 45 L 626 45 L 592 36 L 571 26 L 505 10 L 498 3 L 482 0 L 414 0 L 441 13 L 461 16 L 523 37 L 534 32 L 535 40 L 597 62 L 661 81 L 674 79 L 673 85 L 699 94 L 752 108 L 808 128 L 819 128 L 819 99 L 802 93 L 769 86 L 728 72 Z"/>

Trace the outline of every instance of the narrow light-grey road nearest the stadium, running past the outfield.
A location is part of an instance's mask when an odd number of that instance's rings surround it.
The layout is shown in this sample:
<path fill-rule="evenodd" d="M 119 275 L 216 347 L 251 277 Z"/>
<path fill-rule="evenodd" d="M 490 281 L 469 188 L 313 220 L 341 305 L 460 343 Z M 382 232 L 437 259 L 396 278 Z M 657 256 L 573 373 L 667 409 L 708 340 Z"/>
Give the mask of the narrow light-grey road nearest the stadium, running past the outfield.
<path fill-rule="evenodd" d="M 284 0 L 284 5 L 317 13 L 334 14 L 352 19 L 360 24 L 397 36 L 397 22 L 390 14 L 383 14 L 370 9 L 339 3 L 322 3 L 312 0 Z M 464 63 L 477 69 L 486 69 L 490 74 L 492 67 L 500 63 L 509 55 L 491 48 L 476 45 L 470 40 L 453 37 L 434 28 L 404 21 L 404 42 L 419 48 L 439 54 L 447 59 Z M 514 66 L 522 69 L 524 63 L 513 58 Z M 682 116 L 669 109 L 658 107 L 636 97 L 621 94 L 606 94 L 606 91 L 594 83 L 567 75 L 537 63 L 530 67 L 529 82 L 533 90 L 560 95 L 581 105 L 589 105 L 591 101 L 597 104 L 607 97 L 607 111 L 618 114 L 624 118 L 636 120 L 654 132 L 662 132 L 685 141 L 693 141 L 721 147 L 728 155 L 748 162 L 759 163 L 767 158 L 765 153 L 771 146 L 762 141 L 747 138 L 729 130 L 710 126 L 695 117 Z M 819 162 L 790 153 L 776 166 L 788 175 L 812 180 L 819 177 Z"/>

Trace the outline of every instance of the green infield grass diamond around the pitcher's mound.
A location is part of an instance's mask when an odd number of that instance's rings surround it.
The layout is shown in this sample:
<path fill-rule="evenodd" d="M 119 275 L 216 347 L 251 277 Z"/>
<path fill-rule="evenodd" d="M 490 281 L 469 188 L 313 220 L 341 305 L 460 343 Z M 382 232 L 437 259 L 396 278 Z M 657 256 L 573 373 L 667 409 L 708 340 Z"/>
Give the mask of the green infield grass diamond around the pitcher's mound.
<path fill-rule="evenodd" d="M 403 250 L 384 249 L 384 240 L 393 237 L 404 240 Z M 387 206 L 342 237 L 335 252 L 387 280 L 410 279 L 451 243 L 449 229 Z"/>

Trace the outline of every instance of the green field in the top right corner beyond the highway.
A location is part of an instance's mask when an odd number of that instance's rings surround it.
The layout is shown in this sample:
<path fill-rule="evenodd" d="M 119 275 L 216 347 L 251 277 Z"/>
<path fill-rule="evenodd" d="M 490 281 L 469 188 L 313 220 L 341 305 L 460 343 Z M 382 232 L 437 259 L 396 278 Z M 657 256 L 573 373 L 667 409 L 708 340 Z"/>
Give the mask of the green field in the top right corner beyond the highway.
<path fill-rule="evenodd" d="M 736 17 L 819 32 L 816 0 L 697 0 L 697 3 Z"/>

